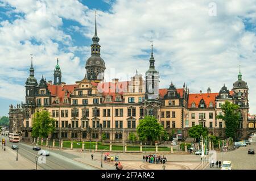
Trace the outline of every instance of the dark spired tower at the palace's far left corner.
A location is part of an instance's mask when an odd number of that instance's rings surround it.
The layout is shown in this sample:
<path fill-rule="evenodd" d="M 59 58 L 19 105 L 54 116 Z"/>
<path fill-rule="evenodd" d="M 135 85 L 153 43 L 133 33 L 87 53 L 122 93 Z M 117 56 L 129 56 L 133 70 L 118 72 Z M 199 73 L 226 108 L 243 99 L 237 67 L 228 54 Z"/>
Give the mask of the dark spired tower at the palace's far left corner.
<path fill-rule="evenodd" d="M 30 77 L 27 78 L 25 87 L 26 87 L 26 104 L 33 106 L 35 105 L 35 95 L 38 92 L 38 82 L 35 78 L 35 70 L 33 68 L 32 56 L 31 56 Z"/>

